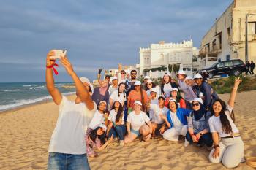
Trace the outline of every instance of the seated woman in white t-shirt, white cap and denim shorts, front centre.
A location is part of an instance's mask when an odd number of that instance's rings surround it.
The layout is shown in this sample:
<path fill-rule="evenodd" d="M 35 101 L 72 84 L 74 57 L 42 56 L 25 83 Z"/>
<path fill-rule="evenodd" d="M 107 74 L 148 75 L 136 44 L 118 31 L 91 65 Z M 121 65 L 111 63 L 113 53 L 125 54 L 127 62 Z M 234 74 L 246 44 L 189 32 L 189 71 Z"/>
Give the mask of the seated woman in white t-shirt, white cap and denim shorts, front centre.
<path fill-rule="evenodd" d="M 142 142 L 148 141 L 152 134 L 152 125 L 149 117 L 141 111 L 142 104 L 135 101 L 134 111 L 127 117 L 127 136 L 124 137 L 124 143 L 134 141 L 140 134 L 143 136 Z"/>

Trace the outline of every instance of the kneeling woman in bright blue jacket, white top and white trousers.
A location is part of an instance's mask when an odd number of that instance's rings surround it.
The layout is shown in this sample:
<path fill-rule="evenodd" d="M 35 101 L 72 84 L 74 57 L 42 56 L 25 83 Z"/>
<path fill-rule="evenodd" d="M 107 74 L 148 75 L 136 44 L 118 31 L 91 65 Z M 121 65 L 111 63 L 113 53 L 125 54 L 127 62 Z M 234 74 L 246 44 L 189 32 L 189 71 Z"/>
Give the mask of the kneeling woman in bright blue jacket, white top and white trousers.
<path fill-rule="evenodd" d="M 167 140 L 178 141 L 179 135 L 186 136 L 187 134 L 187 116 L 191 110 L 178 108 L 177 101 L 173 98 L 170 98 L 168 107 L 170 111 L 167 115 L 161 115 L 168 128 L 162 135 Z"/>

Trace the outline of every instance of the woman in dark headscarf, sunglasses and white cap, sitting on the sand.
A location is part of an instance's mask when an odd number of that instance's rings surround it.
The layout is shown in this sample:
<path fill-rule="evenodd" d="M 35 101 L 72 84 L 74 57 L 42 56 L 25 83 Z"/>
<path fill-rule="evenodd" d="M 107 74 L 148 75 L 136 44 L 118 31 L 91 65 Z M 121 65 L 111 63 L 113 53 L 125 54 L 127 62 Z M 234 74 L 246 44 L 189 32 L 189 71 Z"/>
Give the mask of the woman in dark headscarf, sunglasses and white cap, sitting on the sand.
<path fill-rule="evenodd" d="M 203 107 L 202 98 L 192 100 L 192 109 L 193 111 L 187 117 L 188 132 L 184 146 L 187 147 L 189 143 L 195 142 L 201 146 L 206 144 L 211 149 L 213 141 L 208 124 L 211 112 L 207 112 L 206 108 Z"/>

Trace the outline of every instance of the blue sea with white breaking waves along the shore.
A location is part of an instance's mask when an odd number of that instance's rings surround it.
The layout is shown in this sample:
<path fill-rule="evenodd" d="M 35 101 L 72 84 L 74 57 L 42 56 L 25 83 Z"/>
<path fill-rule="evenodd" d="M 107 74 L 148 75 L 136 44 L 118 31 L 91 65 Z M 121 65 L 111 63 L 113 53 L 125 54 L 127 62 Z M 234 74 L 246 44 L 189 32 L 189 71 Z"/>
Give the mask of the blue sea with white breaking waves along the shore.
<path fill-rule="evenodd" d="M 65 95 L 75 94 L 75 88 L 64 88 L 72 82 L 55 82 L 56 88 Z M 1 82 L 0 112 L 51 99 L 45 82 Z"/>

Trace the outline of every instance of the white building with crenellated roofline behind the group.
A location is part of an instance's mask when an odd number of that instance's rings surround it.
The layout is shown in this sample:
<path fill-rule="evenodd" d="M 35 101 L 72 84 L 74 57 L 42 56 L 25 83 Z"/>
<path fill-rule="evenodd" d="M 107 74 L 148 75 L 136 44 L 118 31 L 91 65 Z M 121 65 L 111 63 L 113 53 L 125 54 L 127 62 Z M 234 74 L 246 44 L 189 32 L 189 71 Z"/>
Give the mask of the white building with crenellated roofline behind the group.
<path fill-rule="evenodd" d="M 148 69 L 168 66 L 168 64 L 180 64 L 180 69 L 183 69 L 188 75 L 192 75 L 192 58 L 196 53 L 198 50 L 193 47 L 192 40 L 181 43 L 161 41 L 158 44 L 151 44 L 147 48 L 140 47 L 140 75 L 149 75 L 152 78 L 162 77 L 164 72 L 154 74 Z"/>

